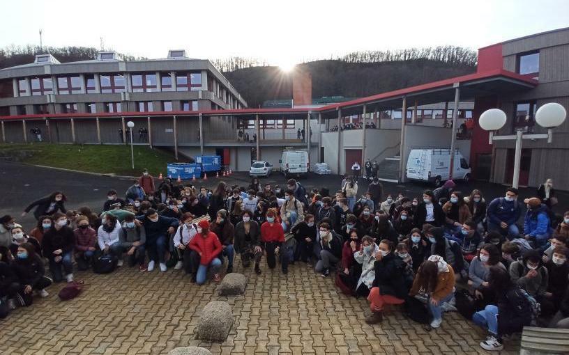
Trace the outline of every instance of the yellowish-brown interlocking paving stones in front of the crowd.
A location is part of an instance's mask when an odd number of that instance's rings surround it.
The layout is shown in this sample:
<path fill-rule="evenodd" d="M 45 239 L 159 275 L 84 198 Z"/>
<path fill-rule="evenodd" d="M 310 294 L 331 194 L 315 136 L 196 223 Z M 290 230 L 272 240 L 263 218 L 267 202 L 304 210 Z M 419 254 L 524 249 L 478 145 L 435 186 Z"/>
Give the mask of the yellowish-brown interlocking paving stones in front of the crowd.
<path fill-rule="evenodd" d="M 365 299 L 337 292 L 333 277 L 303 263 L 287 276 L 264 260 L 259 276 L 237 258 L 234 269 L 249 278 L 238 297 L 219 297 L 215 283 L 192 284 L 182 270 L 79 272 L 86 287 L 76 299 L 60 301 L 63 284 L 52 285 L 50 297 L 0 321 L 0 354 L 167 354 L 192 345 L 212 354 L 489 354 L 478 346 L 485 332 L 458 313 L 425 331 L 395 307 L 370 326 Z M 233 308 L 229 337 L 220 344 L 196 340 L 200 311 L 218 300 Z M 519 354 L 519 336 L 505 345 L 501 354 Z"/>

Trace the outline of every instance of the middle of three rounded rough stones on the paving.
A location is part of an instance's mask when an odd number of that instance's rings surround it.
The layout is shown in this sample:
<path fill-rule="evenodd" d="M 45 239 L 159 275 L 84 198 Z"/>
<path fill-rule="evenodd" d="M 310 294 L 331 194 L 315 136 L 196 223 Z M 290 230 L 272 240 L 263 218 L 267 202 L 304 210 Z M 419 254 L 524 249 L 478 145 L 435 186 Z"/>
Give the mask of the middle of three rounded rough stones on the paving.
<path fill-rule="evenodd" d="M 224 342 L 233 326 L 232 308 L 229 303 L 212 301 L 202 310 L 197 324 L 197 338 L 210 342 Z"/>

